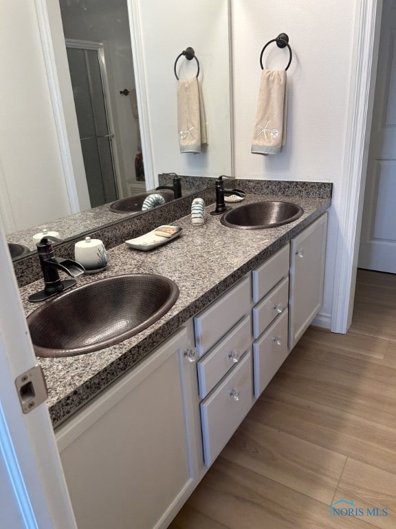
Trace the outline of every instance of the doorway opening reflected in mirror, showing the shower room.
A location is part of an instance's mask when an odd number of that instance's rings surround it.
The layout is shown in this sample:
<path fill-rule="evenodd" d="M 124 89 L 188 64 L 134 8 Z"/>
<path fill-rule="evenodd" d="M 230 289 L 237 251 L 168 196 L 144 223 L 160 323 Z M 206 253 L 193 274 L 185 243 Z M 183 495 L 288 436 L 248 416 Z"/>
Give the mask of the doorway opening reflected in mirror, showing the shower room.
<path fill-rule="evenodd" d="M 59 0 L 59 5 L 79 129 L 74 134 L 79 132 L 87 176 L 85 182 L 78 174 L 86 189 L 85 198 L 78 191 L 78 201 L 89 199 L 95 207 L 144 192 L 126 0 Z"/>

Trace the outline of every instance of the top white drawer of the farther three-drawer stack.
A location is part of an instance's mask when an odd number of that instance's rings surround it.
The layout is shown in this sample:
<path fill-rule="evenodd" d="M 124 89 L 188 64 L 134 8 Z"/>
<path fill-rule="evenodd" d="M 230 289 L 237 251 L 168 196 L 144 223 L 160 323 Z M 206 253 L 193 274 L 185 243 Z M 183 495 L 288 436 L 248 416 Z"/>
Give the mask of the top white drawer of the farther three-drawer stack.
<path fill-rule="evenodd" d="M 252 271 L 253 301 L 261 300 L 281 279 L 289 275 L 289 245 Z"/>

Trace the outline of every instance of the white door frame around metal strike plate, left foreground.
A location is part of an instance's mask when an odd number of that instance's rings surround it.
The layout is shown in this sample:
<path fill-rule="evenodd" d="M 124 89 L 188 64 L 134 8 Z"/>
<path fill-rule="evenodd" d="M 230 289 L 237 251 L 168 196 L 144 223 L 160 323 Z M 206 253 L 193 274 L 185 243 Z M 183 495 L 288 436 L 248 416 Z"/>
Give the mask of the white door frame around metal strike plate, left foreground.
<path fill-rule="evenodd" d="M 2 230 L 0 292 L 0 526 L 76 529 L 47 406 L 24 414 L 14 383 L 36 357 Z"/>

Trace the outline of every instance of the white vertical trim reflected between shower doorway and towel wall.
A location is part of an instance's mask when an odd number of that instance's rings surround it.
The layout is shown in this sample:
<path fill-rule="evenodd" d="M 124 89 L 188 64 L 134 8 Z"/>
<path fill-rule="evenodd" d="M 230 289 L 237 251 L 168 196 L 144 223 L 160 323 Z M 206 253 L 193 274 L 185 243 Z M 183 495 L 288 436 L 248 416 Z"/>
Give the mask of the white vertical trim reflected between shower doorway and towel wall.
<path fill-rule="evenodd" d="M 144 178 L 146 180 L 146 189 L 154 189 L 154 187 L 158 185 L 158 176 L 154 174 L 153 152 L 149 127 L 150 116 L 148 114 L 148 90 L 146 72 L 144 69 L 140 0 L 126 0 L 126 5 L 129 14 L 129 30 L 131 31 L 137 110 L 139 113 L 140 138 L 142 139 Z"/>

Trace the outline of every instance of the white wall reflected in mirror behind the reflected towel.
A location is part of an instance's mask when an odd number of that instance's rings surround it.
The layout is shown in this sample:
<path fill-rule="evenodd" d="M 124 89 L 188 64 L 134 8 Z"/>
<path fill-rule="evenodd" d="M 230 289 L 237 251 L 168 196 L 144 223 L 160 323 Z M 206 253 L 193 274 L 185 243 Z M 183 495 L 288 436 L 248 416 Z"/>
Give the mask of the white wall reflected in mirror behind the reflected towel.
<path fill-rule="evenodd" d="M 228 2 L 225 0 L 140 0 L 146 90 L 155 174 L 195 176 L 231 173 Z M 175 59 L 191 46 L 199 59 L 208 147 L 180 154 L 177 131 Z M 197 73 L 195 60 L 181 57 L 183 77 Z M 181 77 L 181 76 L 180 76 Z"/>

